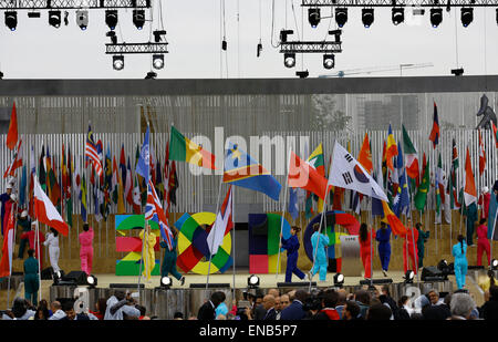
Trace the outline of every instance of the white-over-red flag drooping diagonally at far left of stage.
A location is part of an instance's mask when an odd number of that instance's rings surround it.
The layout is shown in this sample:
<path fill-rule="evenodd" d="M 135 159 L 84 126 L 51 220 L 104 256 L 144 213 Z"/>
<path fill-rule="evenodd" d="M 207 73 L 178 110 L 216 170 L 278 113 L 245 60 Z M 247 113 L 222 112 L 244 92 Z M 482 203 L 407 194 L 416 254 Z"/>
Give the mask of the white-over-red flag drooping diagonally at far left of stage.
<path fill-rule="evenodd" d="M 41 188 L 37 177 L 34 177 L 34 216 L 39 222 L 54 228 L 63 236 L 68 236 L 68 224 L 63 221 L 61 215 Z"/>

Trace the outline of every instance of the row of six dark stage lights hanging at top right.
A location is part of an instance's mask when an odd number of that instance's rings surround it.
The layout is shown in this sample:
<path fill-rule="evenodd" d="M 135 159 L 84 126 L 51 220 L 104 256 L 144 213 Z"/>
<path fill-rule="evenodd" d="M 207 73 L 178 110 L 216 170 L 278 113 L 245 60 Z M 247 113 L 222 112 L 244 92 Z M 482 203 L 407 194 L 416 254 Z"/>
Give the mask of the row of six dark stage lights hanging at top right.
<path fill-rule="evenodd" d="M 331 18 L 331 17 L 324 17 Z M 310 25 L 314 29 L 320 23 L 320 20 L 323 19 L 320 15 L 320 8 L 310 8 L 308 9 L 308 21 Z M 405 21 L 405 9 L 403 7 L 394 7 L 392 9 L 391 19 L 393 24 L 398 25 Z M 432 8 L 429 10 L 429 19 L 433 28 L 437 28 L 443 22 L 443 9 L 442 8 Z M 474 8 L 463 7 L 460 9 L 460 20 L 464 28 L 467 28 L 474 20 Z M 498 24 L 498 9 L 496 10 L 496 21 Z M 338 27 L 342 28 L 347 22 L 347 8 L 335 8 L 335 22 Z M 362 9 L 362 23 L 369 29 L 374 22 L 374 9 L 373 8 L 364 8 Z"/>

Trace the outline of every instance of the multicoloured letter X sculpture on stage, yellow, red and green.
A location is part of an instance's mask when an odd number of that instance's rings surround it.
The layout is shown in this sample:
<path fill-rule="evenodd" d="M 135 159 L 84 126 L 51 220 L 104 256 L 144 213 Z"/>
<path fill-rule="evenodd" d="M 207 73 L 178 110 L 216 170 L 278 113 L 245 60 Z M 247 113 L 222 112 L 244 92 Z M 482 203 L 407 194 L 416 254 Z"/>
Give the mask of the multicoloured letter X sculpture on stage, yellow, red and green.
<path fill-rule="evenodd" d="M 206 276 L 209 270 L 209 248 L 207 236 L 215 222 L 212 213 L 184 214 L 176 222 L 178 234 L 178 258 L 176 265 L 184 272 Z M 234 262 L 231 253 L 231 236 L 226 234 L 218 252 L 211 257 L 210 273 L 224 273 Z"/>

